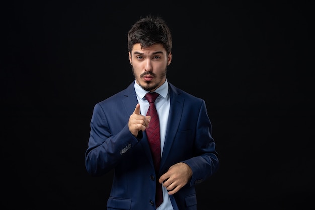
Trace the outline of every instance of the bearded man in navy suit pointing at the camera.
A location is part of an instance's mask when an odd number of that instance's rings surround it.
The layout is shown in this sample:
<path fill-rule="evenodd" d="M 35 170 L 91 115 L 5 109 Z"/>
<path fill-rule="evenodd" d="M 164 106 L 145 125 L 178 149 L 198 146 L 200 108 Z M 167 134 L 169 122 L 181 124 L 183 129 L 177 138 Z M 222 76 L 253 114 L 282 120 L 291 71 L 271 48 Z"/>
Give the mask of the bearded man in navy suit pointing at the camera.
<path fill-rule="evenodd" d="M 171 33 L 161 17 L 137 21 L 128 32 L 135 80 L 94 107 L 86 169 L 91 176 L 114 169 L 107 209 L 197 209 L 194 186 L 218 168 L 205 101 L 166 79 L 171 50 Z M 148 92 L 159 94 L 152 106 Z M 146 113 L 154 104 L 158 117 L 153 120 Z M 152 128 L 160 137 L 150 149 Z M 159 152 L 153 159 L 155 149 Z"/>

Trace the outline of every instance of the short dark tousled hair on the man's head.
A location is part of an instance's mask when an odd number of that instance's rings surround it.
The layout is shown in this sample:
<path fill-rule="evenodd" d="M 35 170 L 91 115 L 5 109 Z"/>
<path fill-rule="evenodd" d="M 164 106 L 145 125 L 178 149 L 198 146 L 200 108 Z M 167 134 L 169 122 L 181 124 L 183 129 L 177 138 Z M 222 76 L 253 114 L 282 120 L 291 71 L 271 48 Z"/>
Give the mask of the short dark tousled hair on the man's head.
<path fill-rule="evenodd" d="M 169 54 L 172 51 L 171 31 L 161 17 L 149 15 L 133 24 L 128 32 L 128 51 L 131 52 L 133 45 L 137 43 L 141 47 L 162 44 Z"/>

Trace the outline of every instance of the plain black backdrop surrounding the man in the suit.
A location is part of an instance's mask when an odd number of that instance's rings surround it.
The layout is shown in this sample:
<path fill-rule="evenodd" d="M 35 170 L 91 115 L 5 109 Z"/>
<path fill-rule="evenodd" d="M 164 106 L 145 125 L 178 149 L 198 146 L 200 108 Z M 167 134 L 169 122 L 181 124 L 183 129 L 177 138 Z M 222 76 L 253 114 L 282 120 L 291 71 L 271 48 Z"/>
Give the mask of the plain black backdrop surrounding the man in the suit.
<path fill-rule="evenodd" d="M 147 14 L 173 33 L 168 80 L 213 124 L 220 168 L 198 209 L 313 209 L 310 2 L 2 2 L 2 209 L 106 208 L 112 174 L 85 169 L 90 119 L 132 82 L 127 31 Z"/>

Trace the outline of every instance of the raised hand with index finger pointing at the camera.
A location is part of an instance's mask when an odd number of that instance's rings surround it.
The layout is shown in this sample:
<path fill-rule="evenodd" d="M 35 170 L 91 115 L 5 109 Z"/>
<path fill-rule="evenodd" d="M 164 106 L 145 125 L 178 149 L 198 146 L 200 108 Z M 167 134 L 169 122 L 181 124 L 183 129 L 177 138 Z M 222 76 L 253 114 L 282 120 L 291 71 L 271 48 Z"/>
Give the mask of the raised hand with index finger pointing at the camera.
<path fill-rule="evenodd" d="M 129 117 L 128 127 L 132 135 L 137 137 L 140 130 L 144 131 L 151 120 L 150 116 L 143 116 L 140 114 L 140 104 L 136 105 L 134 112 Z"/>

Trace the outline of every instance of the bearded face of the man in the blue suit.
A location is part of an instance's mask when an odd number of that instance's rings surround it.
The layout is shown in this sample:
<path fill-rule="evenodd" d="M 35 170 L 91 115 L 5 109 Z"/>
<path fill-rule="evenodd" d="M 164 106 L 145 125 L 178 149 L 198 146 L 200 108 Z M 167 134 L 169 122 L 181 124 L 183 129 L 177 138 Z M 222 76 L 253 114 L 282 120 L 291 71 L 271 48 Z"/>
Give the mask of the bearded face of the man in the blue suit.
<path fill-rule="evenodd" d="M 129 61 L 132 72 L 144 90 L 154 92 L 166 78 L 167 66 L 170 65 L 172 54 L 166 54 L 161 44 L 154 44 L 147 48 L 141 48 L 140 44 L 133 45 L 129 52 Z"/>

